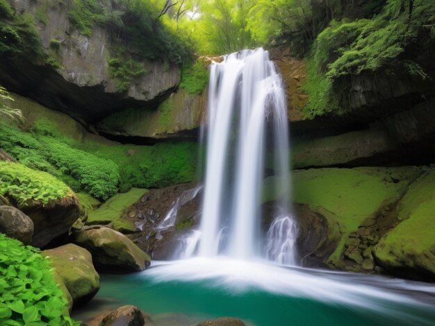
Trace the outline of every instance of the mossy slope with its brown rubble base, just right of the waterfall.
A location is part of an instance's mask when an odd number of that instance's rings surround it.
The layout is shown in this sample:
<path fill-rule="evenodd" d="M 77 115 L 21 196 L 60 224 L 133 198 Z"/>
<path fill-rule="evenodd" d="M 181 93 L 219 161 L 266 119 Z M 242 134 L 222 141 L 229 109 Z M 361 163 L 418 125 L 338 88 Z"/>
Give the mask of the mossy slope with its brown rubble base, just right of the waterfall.
<path fill-rule="evenodd" d="M 317 239 L 304 245 L 313 250 L 306 251 L 308 260 L 320 259 L 331 268 L 363 271 L 363 258 L 371 257 L 365 251 L 377 242 L 381 225 L 393 225 L 390 217 L 395 205 L 421 173 L 420 168 L 412 166 L 294 171 L 293 203 L 302 205 L 295 209 L 302 225 L 298 241 Z M 268 200 L 277 196 L 266 195 Z M 319 231 L 314 237 L 307 223 L 328 232 Z M 368 265 L 366 261 L 365 267 Z"/>

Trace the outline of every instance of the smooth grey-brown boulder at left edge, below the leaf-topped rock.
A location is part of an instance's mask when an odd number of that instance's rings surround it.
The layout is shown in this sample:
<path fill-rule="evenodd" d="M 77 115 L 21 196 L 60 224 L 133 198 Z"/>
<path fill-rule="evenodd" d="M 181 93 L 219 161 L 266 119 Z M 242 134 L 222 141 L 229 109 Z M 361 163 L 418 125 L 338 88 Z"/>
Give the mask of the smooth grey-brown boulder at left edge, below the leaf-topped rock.
<path fill-rule="evenodd" d="M 27 245 L 32 241 L 33 221 L 15 207 L 0 206 L 0 232 Z"/>

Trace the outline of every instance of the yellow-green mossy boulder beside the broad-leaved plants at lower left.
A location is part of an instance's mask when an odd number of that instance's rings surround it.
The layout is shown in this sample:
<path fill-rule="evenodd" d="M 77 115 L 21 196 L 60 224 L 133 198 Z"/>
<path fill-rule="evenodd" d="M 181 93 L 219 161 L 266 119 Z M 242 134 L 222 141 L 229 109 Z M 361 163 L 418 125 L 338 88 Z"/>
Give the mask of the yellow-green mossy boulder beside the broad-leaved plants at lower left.
<path fill-rule="evenodd" d="M 49 257 L 51 266 L 71 295 L 74 306 L 88 302 L 98 292 L 99 275 L 88 250 L 68 243 L 41 253 Z"/>

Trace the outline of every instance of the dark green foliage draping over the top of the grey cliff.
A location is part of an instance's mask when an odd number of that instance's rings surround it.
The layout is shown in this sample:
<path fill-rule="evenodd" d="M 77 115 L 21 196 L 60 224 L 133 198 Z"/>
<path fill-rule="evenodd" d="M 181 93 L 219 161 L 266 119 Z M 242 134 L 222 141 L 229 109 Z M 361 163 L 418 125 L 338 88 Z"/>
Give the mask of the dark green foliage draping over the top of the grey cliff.
<path fill-rule="evenodd" d="M 75 0 L 69 11 L 69 20 L 80 33 L 88 36 L 95 24 L 106 26 L 124 49 L 138 55 L 138 59 L 166 58 L 180 64 L 190 57 L 191 46 L 177 30 L 156 18 L 160 10 L 152 1 Z M 119 65 L 119 62 L 113 63 Z M 121 86 L 125 87 L 124 82 Z"/>

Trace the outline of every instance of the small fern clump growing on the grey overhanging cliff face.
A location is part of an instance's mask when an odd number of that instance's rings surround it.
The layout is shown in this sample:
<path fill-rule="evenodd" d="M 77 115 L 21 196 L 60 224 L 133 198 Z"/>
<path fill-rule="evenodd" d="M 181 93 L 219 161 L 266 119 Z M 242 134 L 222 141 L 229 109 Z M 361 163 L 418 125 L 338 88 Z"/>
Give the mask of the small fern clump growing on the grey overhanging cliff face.
<path fill-rule="evenodd" d="M 129 89 L 131 80 L 133 78 L 138 78 L 147 71 L 143 65 L 133 59 L 122 60 L 122 59 L 111 59 L 108 62 L 108 72 L 110 78 L 115 78 L 117 80 L 117 88 L 120 92 L 125 92 Z"/>

